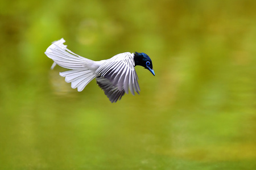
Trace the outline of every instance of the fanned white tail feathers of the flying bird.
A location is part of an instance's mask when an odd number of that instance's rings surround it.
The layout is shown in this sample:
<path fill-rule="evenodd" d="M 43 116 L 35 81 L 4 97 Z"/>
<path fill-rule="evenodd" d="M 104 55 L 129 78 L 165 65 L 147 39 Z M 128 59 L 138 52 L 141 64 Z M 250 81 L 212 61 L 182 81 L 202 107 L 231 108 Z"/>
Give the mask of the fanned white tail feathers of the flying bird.
<path fill-rule="evenodd" d="M 66 69 L 71 69 L 60 73 L 60 75 L 65 77 L 67 83 L 71 83 L 72 88 L 82 91 L 96 77 L 92 70 L 85 67 L 86 65 L 92 65 L 94 61 L 71 52 L 71 50 L 67 49 L 67 45 L 63 44 L 64 42 L 64 39 L 53 42 L 47 48 L 45 54 L 54 61 L 52 69 L 56 64 Z"/>

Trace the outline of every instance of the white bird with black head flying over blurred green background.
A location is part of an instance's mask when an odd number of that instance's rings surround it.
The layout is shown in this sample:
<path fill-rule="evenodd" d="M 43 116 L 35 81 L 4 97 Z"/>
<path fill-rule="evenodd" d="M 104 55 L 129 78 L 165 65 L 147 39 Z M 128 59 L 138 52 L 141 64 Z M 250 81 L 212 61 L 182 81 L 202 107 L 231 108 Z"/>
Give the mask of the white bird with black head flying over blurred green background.
<path fill-rule="evenodd" d="M 125 52 L 109 59 L 93 61 L 73 53 L 64 42 L 63 38 L 52 42 L 45 54 L 53 60 L 51 69 L 56 65 L 69 69 L 61 72 L 60 76 L 65 77 L 65 82 L 71 83 L 71 87 L 79 92 L 96 78 L 98 86 L 111 103 L 115 103 L 129 90 L 133 95 L 141 91 L 135 66 L 143 66 L 155 76 L 152 61 L 145 53 Z"/>

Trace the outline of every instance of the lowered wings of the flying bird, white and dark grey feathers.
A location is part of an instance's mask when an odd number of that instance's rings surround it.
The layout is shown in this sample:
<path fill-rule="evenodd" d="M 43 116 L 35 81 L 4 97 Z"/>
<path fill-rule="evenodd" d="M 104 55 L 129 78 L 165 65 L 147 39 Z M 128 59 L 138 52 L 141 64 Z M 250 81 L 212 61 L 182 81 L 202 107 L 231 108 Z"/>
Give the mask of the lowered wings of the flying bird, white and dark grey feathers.
<path fill-rule="evenodd" d="M 117 54 L 96 70 L 96 73 L 101 77 L 96 79 L 97 83 L 109 99 L 112 97 L 115 99 L 117 96 L 117 99 L 121 99 L 125 92 L 128 94 L 129 89 L 131 94 L 135 95 L 135 92 L 139 94 L 140 88 L 138 75 L 134 69 L 133 55 L 128 52 Z"/>

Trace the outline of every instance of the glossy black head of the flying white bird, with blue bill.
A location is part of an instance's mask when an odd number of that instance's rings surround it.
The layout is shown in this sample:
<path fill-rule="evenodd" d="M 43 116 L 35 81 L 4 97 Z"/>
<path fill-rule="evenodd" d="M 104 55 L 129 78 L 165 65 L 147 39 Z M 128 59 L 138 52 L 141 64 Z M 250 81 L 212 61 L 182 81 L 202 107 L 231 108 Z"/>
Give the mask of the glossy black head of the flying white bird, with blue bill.
<path fill-rule="evenodd" d="M 155 72 L 153 70 L 153 65 L 150 57 L 147 56 L 145 53 L 134 53 L 134 62 L 135 66 L 143 66 L 145 69 L 149 70 L 153 75 Z"/>

